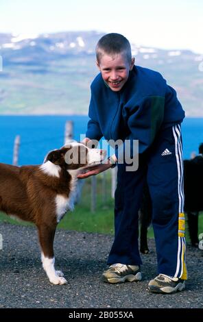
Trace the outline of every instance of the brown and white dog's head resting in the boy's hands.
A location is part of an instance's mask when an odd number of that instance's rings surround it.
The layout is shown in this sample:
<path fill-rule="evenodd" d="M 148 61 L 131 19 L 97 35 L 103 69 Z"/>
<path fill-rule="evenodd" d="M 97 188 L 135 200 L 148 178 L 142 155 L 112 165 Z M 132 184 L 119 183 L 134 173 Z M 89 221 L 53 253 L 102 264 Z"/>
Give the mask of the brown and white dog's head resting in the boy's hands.
<path fill-rule="evenodd" d="M 106 150 L 90 149 L 82 143 L 72 142 L 61 149 L 50 151 L 44 163 L 50 161 L 67 170 L 75 170 L 99 164 L 105 157 Z"/>

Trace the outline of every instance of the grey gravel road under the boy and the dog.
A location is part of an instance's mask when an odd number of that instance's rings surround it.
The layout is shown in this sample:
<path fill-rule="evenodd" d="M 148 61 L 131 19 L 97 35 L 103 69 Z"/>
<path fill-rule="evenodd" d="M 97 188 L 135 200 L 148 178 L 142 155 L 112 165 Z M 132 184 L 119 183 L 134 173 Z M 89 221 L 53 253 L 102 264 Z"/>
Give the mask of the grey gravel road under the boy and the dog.
<path fill-rule="evenodd" d="M 36 229 L 0 224 L 0 308 L 203 308 L 202 251 L 187 247 L 187 290 L 174 295 L 147 292 L 156 276 L 154 240 L 143 258 L 143 281 L 105 284 L 101 273 L 112 236 L 57 230 L 56 269 L 68 284 L 49 283 L 40 263 Z"/>

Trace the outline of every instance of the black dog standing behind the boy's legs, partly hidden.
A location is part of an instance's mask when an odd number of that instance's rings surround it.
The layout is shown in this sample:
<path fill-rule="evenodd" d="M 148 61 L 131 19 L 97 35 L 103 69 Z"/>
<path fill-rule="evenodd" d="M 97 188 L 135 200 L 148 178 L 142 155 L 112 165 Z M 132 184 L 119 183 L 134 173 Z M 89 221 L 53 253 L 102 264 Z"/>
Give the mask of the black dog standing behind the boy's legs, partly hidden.
<path fill-rule="evenodd" d="M 184 160 L 184 212 L 187 213 L 191 245 L 198 247 L 198 212 L 203 211 L 203 158 L 197 156 L 192 160 Z M 152 221 L 152 200 L 150 191 L 145 183 L 143 200 L 139 212 L 141 224 L 140 251 L 149 253 L 147 245 L 147 229 Z"/>

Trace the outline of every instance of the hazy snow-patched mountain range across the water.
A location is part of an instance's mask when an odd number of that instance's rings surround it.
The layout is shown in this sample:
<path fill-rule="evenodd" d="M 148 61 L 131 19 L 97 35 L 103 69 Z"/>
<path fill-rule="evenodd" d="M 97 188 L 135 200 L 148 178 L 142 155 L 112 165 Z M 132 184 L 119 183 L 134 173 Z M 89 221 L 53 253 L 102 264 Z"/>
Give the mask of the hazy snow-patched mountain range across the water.
<path fill-rule="evenodd" d="M 87 114 L 89 86 L 98 73 L 95 45 L 102 35 L 0 34 L 0 114 Z M 132 54 L 136 64 L 162 73 L 187 116 L 203 116 L 203 55 L 134 44 Z"/>

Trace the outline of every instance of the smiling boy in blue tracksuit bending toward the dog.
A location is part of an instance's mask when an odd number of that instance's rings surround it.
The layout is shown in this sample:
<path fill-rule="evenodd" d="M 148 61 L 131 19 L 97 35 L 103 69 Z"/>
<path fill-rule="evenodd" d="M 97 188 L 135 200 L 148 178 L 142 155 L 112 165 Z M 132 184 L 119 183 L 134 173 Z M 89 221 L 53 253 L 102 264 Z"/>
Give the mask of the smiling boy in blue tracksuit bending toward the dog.
<path fill-rule="evenodd" d="M 138 210 L 147 178 L 153 203 L 158 276 L 149 283 L 156 293 L 185 288 L 182 140 L 184 111 L 176 92 L 163 77 L 134 66 L 128 40 L 106 34 L 96 47 L 99 75 L 91 84 L 90 121 L 84 143 L 90 140 L 139 140 L 139 168 L 126 171 L 118 149 L 106 164 L 89 169 L 80 178 L 118 165 L 115 192 L 115 240 L 102 279 L 108 283 L 141 280 Z"/>

